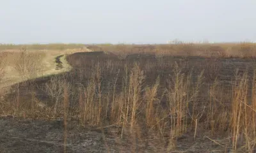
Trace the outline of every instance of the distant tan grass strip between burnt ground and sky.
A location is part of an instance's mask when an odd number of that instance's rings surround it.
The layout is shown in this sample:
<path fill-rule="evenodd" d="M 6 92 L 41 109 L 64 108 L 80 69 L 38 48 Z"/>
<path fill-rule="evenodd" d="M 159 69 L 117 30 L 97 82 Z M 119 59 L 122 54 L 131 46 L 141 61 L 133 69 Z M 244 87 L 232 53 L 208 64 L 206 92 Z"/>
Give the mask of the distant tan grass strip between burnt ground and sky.
<path fill-rule="evenodd" d="M 175 56 L 201 56 L 201 57 L 255 57 L 255 43 L 179 43 L 162 45 L 87 45 L 93 51 L 114 52 L 125 57 L 127 54 L 134 53 L 154 53 L 157 55 L 175 55 Z"/>

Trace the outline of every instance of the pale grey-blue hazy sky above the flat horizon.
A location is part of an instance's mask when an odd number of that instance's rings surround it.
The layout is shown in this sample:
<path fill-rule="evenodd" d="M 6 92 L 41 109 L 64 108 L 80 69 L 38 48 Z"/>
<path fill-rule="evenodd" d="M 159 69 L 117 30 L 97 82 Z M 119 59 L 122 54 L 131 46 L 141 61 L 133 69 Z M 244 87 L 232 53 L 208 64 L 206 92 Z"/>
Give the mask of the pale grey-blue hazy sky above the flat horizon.
<path fill-rule="evenodd" d="M 256 0 L 0 0 L 0 43 L 256 40 Z"/>

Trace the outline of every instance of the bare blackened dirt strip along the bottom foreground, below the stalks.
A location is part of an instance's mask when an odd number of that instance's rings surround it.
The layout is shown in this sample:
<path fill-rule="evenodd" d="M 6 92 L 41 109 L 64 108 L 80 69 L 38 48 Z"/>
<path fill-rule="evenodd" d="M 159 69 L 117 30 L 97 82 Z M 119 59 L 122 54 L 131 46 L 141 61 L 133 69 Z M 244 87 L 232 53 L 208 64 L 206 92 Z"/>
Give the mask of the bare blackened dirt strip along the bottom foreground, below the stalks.
<path fill-rule="evenodd" d="M 68 122 L 67 152 L 132 152 L 132 144 L 127 140 L 115 140 L 113 135 L 100 129 L 82 128 L 75 122 Z M 29 120 L 13 117 L 0 118 L 0 150 L 7 152 L 63 152 L 64 128 L 62 120 Z M 154 140 L 136 145 L 136 152 L 228 152 L 223 147 L 228 140 L 215 137 L 213 142 L 206 136 L 193 140 L 185 134 L 178 138 L 175 151 L 154 149 Z M 220 143 L 220 144 L 218 144 Z M 223 145 L 223 146 L 221 146 Z"/>

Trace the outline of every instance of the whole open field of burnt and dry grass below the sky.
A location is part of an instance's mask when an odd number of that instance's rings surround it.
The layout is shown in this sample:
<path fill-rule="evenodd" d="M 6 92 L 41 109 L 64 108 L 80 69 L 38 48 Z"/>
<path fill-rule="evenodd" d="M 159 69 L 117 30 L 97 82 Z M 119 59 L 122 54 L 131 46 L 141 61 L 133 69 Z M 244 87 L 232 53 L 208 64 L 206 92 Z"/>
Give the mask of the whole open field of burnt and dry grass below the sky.
<path fill-rule="evenodd" d="M 30 52 L 44 70 L 3 85 L 4 152 L 256 152 L 253 43 Z"/>

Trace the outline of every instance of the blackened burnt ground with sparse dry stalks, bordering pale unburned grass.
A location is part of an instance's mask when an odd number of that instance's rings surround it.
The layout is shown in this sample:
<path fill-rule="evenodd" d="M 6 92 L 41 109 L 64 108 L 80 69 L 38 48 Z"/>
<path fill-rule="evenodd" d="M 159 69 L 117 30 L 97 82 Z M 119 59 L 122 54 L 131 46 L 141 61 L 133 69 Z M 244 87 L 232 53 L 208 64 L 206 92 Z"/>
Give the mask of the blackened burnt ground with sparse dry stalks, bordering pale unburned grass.
<path fill-rule="evenodd" d="M 12 92 L 4 97 L 2 113 L 10 114 L 15 118 L 0 119 L 0 149 L 3 152 L 62 152 L 65 96 L 68 97 L 67 152 L 120 152 L 120 150 L 131 152 L 129 150 L 131 147 L 135 152 L 166 152 L 167 150 L 228 152 L 232 149 L 232 144 L 225 138 L 230 135 L 231 123 L 228 120 L 221 120 L 223 116 L 220 114 L 231 111 L 230 105 L 234 96 L 232 90 L 236 85 L 234 80 L 237 77 L 243 78 L 244 73 L 248 74 L 246 78 L 248 91 L 252 90 L 253 71 L 256 64 L 252 58 L 184 57 L 145 52 L 117 55 L 103 51 L 71 54 L 67 56 L 67 61 L 72 66 L 72 70 L 67 73 L 12 85 L 10 89 Z M 189 76 L 191 76 L 190 80 L 186 82 Z M 154 90 L 157 79 L 159 86 L 152 98 L 154 109 L 152 108 L 152 116 L 147 116 L 148 101 L 150 101 L 148 94 L 153 94 L 150 90 Z M 183 84 L 188 83 L 186 90 L 189 91 L 184 93 Z M 51 95 L 47 92 L 45 85 L 52 84 L 56 85 L 56 87 L 51 86 L 55 90 L 52 92 L 61 92 L 59 95 Z M 63 94 L 65 91 L 63 84 L 68 84 L 68 95 Z M 210 93 L 213 92 L 212 87 L 216 87 L 214 97 Z M 134 89 L 139 91 L 129 91 Z M 131 99 L 125 99 L 128 95 L 124 94 L 128 91 L 130 94 L 138 94 L 138 97 L 135 96 L 139 103 L 136 104 L 138 116 L 136 116 L 136 122 L 124 123 L 124 119 L 132 118 L 132 112 L 127 112 L 131 113 L 131 116 L 123 116 L 120 110 L 123 108 L 119 105 L 127 101 L 127 103 L 131 102 Z M 196 98 L 182 99 L 183 97 L 179 95 L 170 97 L 173 94 L 191 96 L 190 91 L 191 94 L 196 92 Z M 253 101 L 252 92 L 248 92 L 246 97 L 249 101 Z M 53 113 L 57 98 L 57 110 Z M 181 105 L 183 107 L 181 103 L 176 105 L 173 102 L 172 104 L 170 101 L 173 98 L 181 98 L 180 101 L 188 102 L 188 110 L 178 108 Z M 212 98 L 221 102 L 216 102 L 212 106 Z M 82 101 L 86 102 L 81 104 Z M 89 111 L 90 114 L 87 114 L 93 117 L 83 118 L 86 112 L 80 108 L 89 101 L 96 103 L 90 105 L 96 110 Z M 102 106 L 99 106 L 99 103 Z M 175 108 L 182 109 L 180 111 L 184 116 L 180 117 L 181 120 L 176 120 L 180 114 L 172 110 Z M 102 112 L 98 114 L 97 109 L 102 109 Z M 127 106 L 125 109 L 130 108 Z M 218 110 L 222 112 L 218 114 Z M 196 126 L 193 122 L 195 119 L 193 113 L 200 116 Z M 147 122 L 147 117 L 151 117 L 154 122 Z M 229 115 L 225 117 L 231 119 Z M 213 126 L 212 120 L 216 122 Z M 177 125 L 178 122 L 179 125 Z M 135 127 L 133 132 L 129 130 L 130 124 L 134 125 L 133 128 Z M 186 130 L 170 133 L 170 129 L 184 127 Z M 194 140 L 195 128 L 197 133 Z M 98 130 L 92 131 L 92 129 Z M 124 137 L 121 138 L 120 135 Z M 213 140 L 221 145 L 216 145 Z M 243 141 L 241 140 L 237 145 L 243 146 Z"/>

